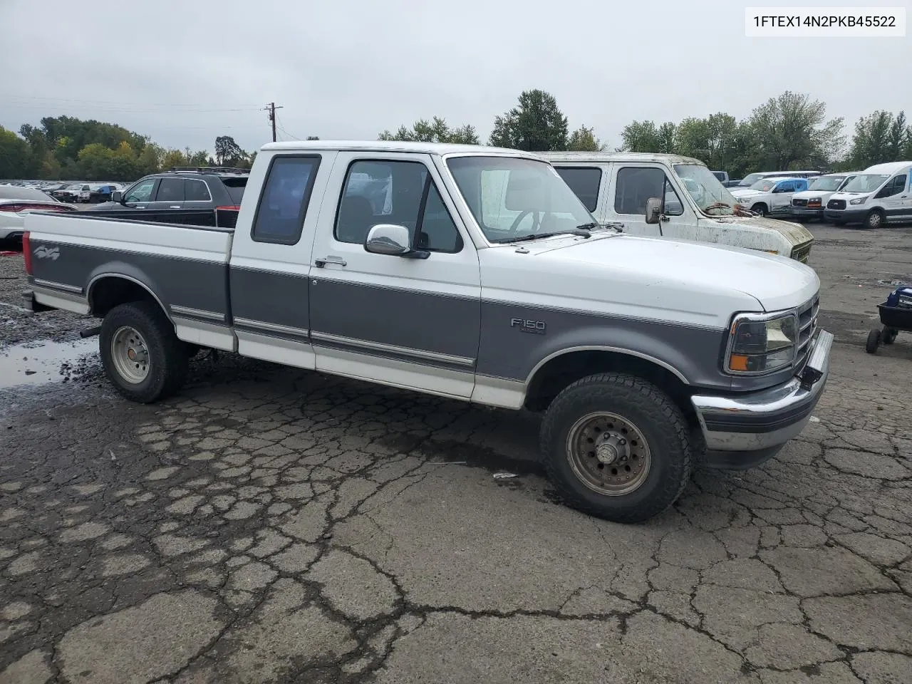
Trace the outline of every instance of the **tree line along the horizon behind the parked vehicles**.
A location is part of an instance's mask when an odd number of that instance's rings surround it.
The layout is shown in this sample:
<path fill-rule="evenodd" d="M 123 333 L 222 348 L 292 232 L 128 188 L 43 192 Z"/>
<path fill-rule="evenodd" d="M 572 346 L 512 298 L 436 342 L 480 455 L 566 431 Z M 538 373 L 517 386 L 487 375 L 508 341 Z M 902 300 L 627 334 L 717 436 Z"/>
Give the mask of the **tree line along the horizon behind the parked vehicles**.
<path fill-rule="evenodd" d="M 912 125 L 904 111 L 876 110 L 855 122 L 850 137 L 844 124 L 842 117 L 827 119 L 824 102 L 785 91 L 741 120 L 720 112 L 678 123 L 631 121 L 613 150 L 694 157 L 713 170 L 728 171 L 731 178 L 758 170 L 848 171 L 883 161 L 912 160 Z M 437 116 L 400 126 L 395 132 L 384 130 L 378 139 L 481 143 L 472 125 L 452 127 Z M 486 142 L 527 151 L 609 149 L 592 127 L 583 124 L 570 130 L 556 98 L 540 89 L 524 90 L 512 109 L 496 116 Z M 230 136 L 216 138 L 214 150 L 211 156 L 206 150 L 165 149 L 117 124 L 46 117 L 40 126 L 23 125 L 18 134 L 0 128 L 0 179 L 131 181 L 174 166 L 250 168 L 256 156 Z"/>

